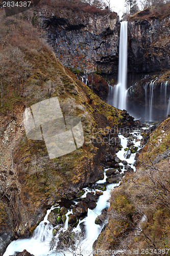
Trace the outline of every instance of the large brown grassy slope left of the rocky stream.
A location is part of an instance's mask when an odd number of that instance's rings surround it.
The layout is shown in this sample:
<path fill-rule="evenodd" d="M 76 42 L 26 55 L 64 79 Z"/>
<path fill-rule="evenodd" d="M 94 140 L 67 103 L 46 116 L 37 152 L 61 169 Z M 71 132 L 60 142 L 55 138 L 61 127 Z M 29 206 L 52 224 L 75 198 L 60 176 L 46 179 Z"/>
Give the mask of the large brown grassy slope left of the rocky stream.
<path fill-rule="evenodd" d="M 96 139 L 106 134 L 106 127 L 130 127 L 135 122 L 64 68 L 25 16 L 5 17 L 4 11 L 0 12 L 2 255 L 11 239 L 30 236 L 54 202 L 62 196 L 70 198 L 72 191 L 103 177 L 102 166 L 106 158 L 113 161 L 113 147 Z M 26 107 L 55 96 L 64 115 L 81 118 L 85 143 L 50 160 L 44 141 L 27 138 L 22 114 Z"/>

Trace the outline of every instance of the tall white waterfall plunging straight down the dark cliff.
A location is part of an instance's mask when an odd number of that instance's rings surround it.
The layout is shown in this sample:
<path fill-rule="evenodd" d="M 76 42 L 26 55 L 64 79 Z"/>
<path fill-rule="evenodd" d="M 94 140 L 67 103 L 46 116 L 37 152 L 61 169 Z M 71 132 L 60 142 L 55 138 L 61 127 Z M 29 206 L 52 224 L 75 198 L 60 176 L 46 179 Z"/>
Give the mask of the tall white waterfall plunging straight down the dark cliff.
<path fill-rule="evenodd" d="M 128 22 L 122 22 L 120 26 L 118 83 L 113 88 L 111 103 L 115 108 L 126 109 L 127 98 L 127 66 L 128 66 Z M 112 93 L 111 93 L 112 94 Z"/>

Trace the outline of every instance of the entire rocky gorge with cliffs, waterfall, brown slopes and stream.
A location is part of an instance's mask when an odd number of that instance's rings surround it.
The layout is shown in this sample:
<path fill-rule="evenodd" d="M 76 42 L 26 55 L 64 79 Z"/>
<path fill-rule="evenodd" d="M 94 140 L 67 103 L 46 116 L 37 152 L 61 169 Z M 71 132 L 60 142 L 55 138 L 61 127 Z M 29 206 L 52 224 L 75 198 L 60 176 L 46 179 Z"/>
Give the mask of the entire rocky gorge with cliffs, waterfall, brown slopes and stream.
<path fill-rule="evenodd" d="M 0 10 L 1 255 L 168 249 L 169 4 L 163 8 L 121 23 L 79 0 L 42 1 L 14 17 Z M 85 139 L 55 159 L 44 141 L 27 138 L 22 120 L 51 97 L 63 115 L 81 118 Z"/>

